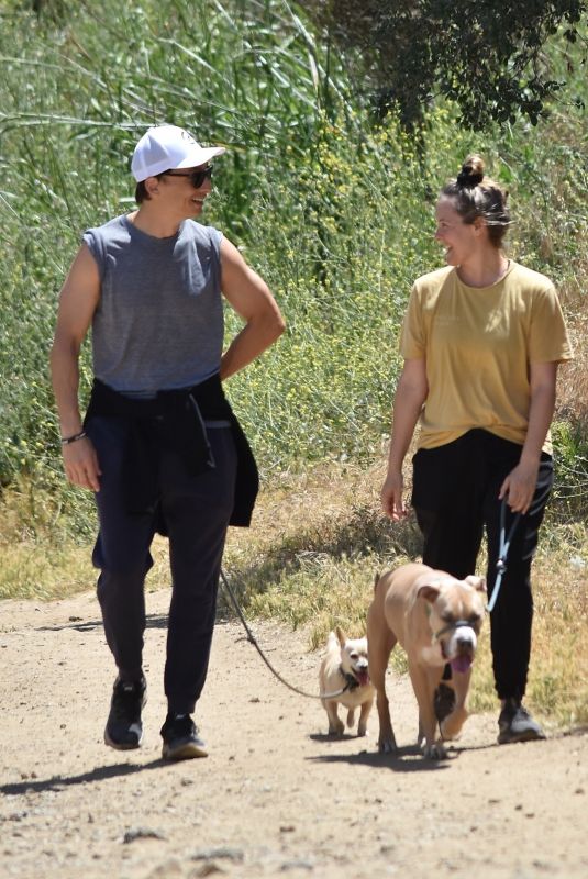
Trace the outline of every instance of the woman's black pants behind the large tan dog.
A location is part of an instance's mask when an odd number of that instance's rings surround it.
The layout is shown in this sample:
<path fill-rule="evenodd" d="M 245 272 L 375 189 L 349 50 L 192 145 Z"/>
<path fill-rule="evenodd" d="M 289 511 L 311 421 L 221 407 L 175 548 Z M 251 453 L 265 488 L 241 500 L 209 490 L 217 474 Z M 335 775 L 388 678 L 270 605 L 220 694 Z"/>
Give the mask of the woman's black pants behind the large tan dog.
<path fill-rule="evenodd" d="M 482 430 L 414 455 L 412 505 L 424 537 L 425 565 L 459 579 L 474 574 L 486 528 L 491 596 L 500 546 L 498 492 L 520 456 L 520 445 Z M 501 699 L 522 699 L 526 687 L 533 620 L 531 561 L 552 485 L 553 461 L 542 454 L 533 501 L 512 536 L 490 620 L 496 690 Z M 507 508 L 507 534 L 512 520 L 513 513 Z"/>

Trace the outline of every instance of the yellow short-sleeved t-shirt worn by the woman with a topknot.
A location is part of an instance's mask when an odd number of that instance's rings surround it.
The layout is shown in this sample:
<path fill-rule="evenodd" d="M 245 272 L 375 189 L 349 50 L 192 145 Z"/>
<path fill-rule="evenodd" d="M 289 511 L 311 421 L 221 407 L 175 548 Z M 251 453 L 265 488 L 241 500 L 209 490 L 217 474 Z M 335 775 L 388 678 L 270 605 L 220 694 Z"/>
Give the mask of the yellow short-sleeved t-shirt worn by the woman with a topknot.
<path fill-rule="evenodd" d="M 553 283 L 513 262 L 491 287 L 467 287 L 453 266 L 419 278 L 400 352 L 426 359 L 420 448 L 451 443 L 474 427 L 522 445 L 529 365 L 573 357 Z M 550 436 L 543 448 L 551 453 Z"/>

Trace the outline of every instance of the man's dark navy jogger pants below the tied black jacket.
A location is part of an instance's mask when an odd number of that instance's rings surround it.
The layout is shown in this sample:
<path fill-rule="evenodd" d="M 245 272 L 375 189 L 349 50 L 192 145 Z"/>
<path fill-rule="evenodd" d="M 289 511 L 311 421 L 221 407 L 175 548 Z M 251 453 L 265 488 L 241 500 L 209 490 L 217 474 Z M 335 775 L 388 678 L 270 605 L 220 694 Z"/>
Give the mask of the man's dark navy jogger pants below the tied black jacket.
<path fill-rule="evenodd" d="M 142 674 L 144 580 L 157 520 L 126 511 L 122 468 L 124 429 L 118 419 L 87 425 L 102 475 L 97 493 L 100 533 L 92 560 L 101 569 L 98 599 L 104 634 L 123 680 Z M 192 713 L 204 686 L 214 627 L 217 591 L 235 485 L 236 454 L 230 427 L 209 430 L 215 468 L 186 472 L 173 450 L 162 450 L 159 503 L 169 535 L 171 601 L 164 686 L 169 711 Z"/>

